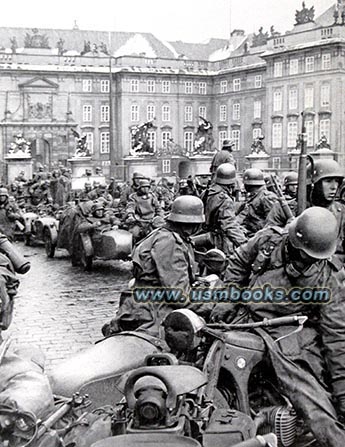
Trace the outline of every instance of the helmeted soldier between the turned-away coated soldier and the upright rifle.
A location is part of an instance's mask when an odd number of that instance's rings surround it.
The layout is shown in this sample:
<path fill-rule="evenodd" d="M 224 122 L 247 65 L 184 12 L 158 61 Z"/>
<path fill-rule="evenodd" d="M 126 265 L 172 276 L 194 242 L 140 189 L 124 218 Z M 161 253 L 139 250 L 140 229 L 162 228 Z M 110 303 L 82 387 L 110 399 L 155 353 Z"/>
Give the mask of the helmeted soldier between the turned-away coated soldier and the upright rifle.
<path fill-rule="evenodd" d="M 248 199 L 244 209 L 238 214 L 237 221 L 247 230 L 248 235 L 252 236 L 265 226 L 268 213 L 278 197 L 267 191 L 260 169 L 247 169 L 243 174 L 243 184 Z"/>

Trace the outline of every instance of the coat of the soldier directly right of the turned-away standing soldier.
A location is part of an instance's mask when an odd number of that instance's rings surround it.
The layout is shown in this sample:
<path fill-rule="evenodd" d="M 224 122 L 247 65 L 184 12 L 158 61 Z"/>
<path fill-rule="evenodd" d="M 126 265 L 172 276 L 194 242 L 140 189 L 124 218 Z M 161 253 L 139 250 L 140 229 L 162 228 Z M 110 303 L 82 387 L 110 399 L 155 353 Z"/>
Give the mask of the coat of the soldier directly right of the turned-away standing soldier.
<path fill-rule="evenodd" d="M 247 200 L 245 208 L 237 216 L 238 223 L 250 236 L 254 235 L 265 226 L 268 213 L 277 201 L 278 197 L 262 186 Z"/>

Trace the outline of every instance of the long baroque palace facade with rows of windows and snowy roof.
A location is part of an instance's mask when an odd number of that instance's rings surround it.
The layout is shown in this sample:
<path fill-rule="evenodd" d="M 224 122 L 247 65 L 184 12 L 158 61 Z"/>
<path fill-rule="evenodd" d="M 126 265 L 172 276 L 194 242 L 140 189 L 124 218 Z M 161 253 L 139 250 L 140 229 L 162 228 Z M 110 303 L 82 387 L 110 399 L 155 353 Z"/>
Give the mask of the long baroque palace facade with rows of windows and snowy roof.
<path fill-rule="evenodd" d="M 31 141 L 33 160 L 51 168 L 73 156 L 77 131 L 95 166 L 121 178 L 133 126 L 153 120 L 155 151 L 192 154 L 199 116 L 213 125 L 214 148 L 235 140 L 240 169 L 263 135 L 271 167 L 286 170 L 302 111 L 309 151 L 324 135 L 345 165 L 345 4 L 314 17 L 303 3 L 285 34 L 273 26 L 234 30 L 229 40 L 203 44 L 77 27 L 0 28 L 0 86 L 2 173 L 18 133 Z"/>

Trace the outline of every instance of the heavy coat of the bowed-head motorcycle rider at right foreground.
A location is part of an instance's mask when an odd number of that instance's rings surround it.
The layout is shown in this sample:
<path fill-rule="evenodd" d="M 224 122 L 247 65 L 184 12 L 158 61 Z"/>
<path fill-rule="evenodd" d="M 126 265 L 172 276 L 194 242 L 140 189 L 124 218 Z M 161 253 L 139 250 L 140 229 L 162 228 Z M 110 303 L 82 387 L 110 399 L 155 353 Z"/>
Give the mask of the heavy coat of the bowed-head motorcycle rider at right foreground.
<path fill-rule="evenodd" d="M 235 321 L 241 314 L 249 321 L 287 315 L 307 315 L 305 328 L 277 343 L 268 342 L 269 355 L 280 388 L 290 399 L 297 413 L 309 425 L 318 445 L 335 447 L 345 444 L 345 431 L 337 421 L 335 409 L 323 386 L 325 361 L 331 378 L 333 396 L 345 411 L 345 271 L 339 261 L 323 259 L 302 272 L 290 269 L 287 234 L 276 228 L 260 231 L 241 246 L 230 259 L 226 273 L 227 284 L 236 283 L 250 288 L 270 284 L 285 290 L 300 287 L 329 288 L 332 300 L 327 304 L 303 303 L 251 303 L 240 310 L 229 305 L 217 305 L 213 316 L 219 312 L 232 314 Z M 238 313 L 239 312 L 239 313 Z M 236 315 L 237 314 L 237 315 Z M 236 316 L 235 316 L 236 315 Z M 224 316 L 224 314 L 223 314 Z M 269 335 L 277 339 L 291 334 L 294 327 L 270 328 Z M 272 340 L 268 337 L 268 340 Z M 267 337 L 264 336 L 267 342 Z M 321 347 L 323 348 L 321 351 Z M 305 365 L 302 368 L 301 365 Z"/>

